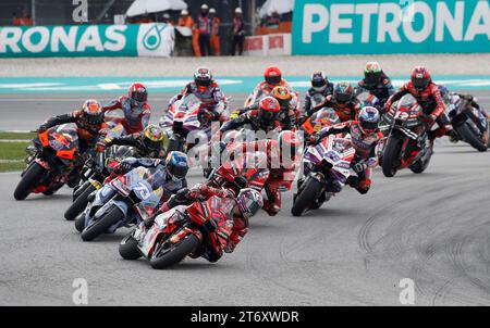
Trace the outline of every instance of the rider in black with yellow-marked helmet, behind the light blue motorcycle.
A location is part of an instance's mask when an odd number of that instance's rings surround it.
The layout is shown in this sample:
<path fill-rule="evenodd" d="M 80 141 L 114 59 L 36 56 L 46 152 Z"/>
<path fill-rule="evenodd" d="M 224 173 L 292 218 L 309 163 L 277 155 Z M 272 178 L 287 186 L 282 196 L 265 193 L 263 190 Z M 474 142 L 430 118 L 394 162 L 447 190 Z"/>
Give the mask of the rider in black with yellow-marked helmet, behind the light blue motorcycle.
<path fill-rule="evenodd" d="M 159 126 L 150 124 L 142 133 L 115 138 L 109 142 L 100 140 L 98 146 L 102 149 L 113 144 L 131 146 L 136 149 L 138 157 L 164 159 L 163 138 L 163 130 Z"/>

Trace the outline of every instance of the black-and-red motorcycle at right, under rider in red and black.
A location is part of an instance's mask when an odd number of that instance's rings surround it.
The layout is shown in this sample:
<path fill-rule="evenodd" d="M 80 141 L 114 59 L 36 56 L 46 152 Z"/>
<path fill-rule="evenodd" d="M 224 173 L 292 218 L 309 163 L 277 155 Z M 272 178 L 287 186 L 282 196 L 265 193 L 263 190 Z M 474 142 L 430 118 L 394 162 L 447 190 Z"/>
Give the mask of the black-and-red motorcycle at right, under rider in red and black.
<path fill-rule="evenodd" d="M 421 119 L 420 105 L 411 94 L 394 103 L 385 115 L 389 125 L 384 148 L 380 150 L 383 175 L 393 177 L 397 171 L 408 167 L 420 174 L 429 166 L 432 142 L 428 138 L 429 126 Z"/>

